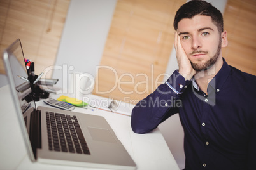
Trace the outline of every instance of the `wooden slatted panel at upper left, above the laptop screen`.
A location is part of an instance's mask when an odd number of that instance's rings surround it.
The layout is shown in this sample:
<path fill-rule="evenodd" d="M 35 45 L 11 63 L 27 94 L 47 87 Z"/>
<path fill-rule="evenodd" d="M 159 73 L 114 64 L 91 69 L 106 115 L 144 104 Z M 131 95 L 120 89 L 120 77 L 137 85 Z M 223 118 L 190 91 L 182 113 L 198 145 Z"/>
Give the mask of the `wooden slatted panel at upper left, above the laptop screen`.
<path fill-rule="evenodd" d="M 55 63 L 70 0 L 0 0 L 0 52 L 20 38 L 40 74 Z M 4 73 L 1 58 L 0 72 Z M 46 75 L 51 77 L 51 75 Z"/>

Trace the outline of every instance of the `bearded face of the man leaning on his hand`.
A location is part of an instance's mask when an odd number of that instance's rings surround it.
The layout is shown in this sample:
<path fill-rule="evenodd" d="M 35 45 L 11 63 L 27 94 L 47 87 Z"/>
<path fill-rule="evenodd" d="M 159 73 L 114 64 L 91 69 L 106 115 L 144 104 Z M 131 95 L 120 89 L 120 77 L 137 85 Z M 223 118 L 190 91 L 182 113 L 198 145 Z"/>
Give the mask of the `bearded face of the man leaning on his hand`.
<path fill-rule="evenodd" d="M 194 70 L 206 70 L 217 61 L 222 36 L 210 16 L 196 15 L 192 19 L 182 19 L 178 22 L 177 32 Z"/>

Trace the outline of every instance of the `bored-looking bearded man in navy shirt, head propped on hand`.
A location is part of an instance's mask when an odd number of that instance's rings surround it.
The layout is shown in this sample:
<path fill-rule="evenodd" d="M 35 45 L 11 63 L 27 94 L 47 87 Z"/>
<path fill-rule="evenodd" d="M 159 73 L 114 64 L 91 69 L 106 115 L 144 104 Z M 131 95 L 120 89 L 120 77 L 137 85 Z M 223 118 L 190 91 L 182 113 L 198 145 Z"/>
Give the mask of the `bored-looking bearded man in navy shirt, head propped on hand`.
<path fill-rule="evenodd" d="M 179 69 L 134 107 L 133 131 L 148 133 L 178 113 L 186 170 L 255 169 L 256 77 L 222 58 L 228 44 L 222 14 L 206 1 L 189 1 L 174 29 Z"/>

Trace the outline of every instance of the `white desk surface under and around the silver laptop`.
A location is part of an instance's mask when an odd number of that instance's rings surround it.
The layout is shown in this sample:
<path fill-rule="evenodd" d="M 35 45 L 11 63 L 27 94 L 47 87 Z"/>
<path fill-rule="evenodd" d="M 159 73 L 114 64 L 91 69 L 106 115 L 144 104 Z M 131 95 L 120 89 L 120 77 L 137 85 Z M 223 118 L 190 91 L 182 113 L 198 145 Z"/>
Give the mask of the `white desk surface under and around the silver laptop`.
<path fill-rule="evenodd" d="M 0 169 L 87 169 L 32 163 L 25 150 L 25 143 L 18 126 L 9 86 L 0 88 L 0 96 L 0 119 L 2 121 L 0 124 Z M 60 95 L 50 96 L 58 98 Z M 95 95 L 87 95 L 86 97 L 99 101 L 108 100 Z M 122 104 L 124 105 L 124 103 Z M 50 107 L 43 101 L 39 101 L 39 105 Z M 127 110 L 132 109 L 128 105 L 125 106 Z M 105 117 L 113 131 L 115 131 L 117 138 L 136 162 L 138 169 L 179 169 L 159 129 L 155 129 L 148 134 L 136 134 L 132 132 L 131 117 L 129 116 L 97 109 L 75 108 L 74 111 Z"/>

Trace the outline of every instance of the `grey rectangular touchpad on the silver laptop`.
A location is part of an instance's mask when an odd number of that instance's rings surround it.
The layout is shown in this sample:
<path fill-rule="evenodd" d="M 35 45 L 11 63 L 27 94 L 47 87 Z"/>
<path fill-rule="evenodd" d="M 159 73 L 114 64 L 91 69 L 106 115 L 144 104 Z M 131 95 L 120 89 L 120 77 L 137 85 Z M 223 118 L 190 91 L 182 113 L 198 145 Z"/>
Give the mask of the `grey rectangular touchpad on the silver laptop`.
<path fill-rule="evenodd" d="M 100 129 L 89 126 L 87 128 L 89 129 L 90 136 L 92 136 L 93 140 L 117 143 L 108 129 Z"/>

